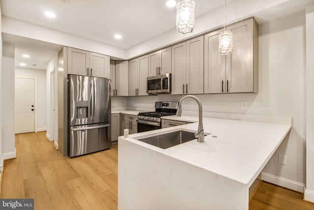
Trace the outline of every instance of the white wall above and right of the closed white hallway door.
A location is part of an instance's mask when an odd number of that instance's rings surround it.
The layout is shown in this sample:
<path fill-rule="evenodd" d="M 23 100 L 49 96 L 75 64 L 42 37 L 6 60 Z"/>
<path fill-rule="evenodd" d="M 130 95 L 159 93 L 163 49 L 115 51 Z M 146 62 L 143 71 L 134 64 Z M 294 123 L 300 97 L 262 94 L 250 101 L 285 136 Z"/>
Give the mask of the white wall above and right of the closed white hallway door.
<path fill-rule="evenodd" d="M 15 67 L 15 77 L 37 78 L 37 127 L 35 131 L 45 131 L 46 126 L 46 71 L 40 69 Z"/>

